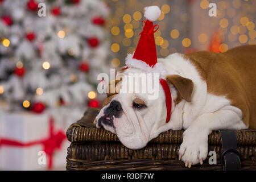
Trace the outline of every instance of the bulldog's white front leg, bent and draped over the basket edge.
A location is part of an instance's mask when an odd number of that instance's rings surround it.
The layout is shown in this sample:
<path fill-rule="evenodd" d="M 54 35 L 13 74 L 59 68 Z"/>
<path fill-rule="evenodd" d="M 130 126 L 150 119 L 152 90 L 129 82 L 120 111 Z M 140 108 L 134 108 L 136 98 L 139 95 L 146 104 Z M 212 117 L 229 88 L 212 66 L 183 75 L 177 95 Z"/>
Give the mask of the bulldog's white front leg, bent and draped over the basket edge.
<path fill-rule="evenodd" d="M 245 128 L 241 114 L 233 110 L 218 110 L 214 113 L 202 114 L 184 131 L 179 160 L 183 160 L 186 167 L 199 162 L 203 164 L 203 160 L 208 155 L 208 135 L 213 130 Z"/>

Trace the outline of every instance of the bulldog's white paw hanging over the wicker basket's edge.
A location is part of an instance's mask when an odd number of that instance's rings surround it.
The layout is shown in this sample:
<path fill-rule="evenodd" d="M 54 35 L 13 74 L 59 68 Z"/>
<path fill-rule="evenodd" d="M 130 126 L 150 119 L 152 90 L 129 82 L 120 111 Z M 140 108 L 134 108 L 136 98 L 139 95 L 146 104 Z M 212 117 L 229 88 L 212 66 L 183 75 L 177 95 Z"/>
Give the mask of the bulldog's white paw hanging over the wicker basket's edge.
<path fill-rule="evenodd" d="M 203 164 L 208 154 L 208 134 L 201 131 L 186 130 L 183 133 L 183 142 L 180 145 L 179 160 L 185 163 L 185 167 L 195 164 Z"/>

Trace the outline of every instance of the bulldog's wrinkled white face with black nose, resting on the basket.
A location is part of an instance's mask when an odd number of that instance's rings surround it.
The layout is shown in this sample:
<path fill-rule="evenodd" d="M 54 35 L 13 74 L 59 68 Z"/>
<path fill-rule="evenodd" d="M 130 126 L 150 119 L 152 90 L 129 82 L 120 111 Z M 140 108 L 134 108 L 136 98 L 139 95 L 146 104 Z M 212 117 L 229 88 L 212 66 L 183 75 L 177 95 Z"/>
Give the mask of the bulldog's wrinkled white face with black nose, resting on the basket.
<path fill-rule="evenodd" d="M 152 138 L 157 137 L 158 134 L 162 132 L 159 129 L 166 125 L 167 113 L 166 98 L 162 86 L 160 86 L 160 84 L 156 83 L 156 81 L 152 79 L 152 88 L 154 89 L 152 89 L 150 92 L 146 90 L 146 92 L 138 93 L 135 91 L 134 86 L 138 84 L 137 81 L 139 81 L 139 85 L 141 85 L 140 90 L 142 90 L 142 86 L 144 86 L 144 84 L 141 83 L 146 82 L 146 84 L 148 84 L 148 81 L 145 80 L 147 78 L 142 77 L 140 77 L 140 79 L 136 79 L 138 78 L 138 74 L 134 73 L 142 72 L 138 69 L 129 68 L 122 73 L 122 76 L 117 75 L 118 80 L 120 77 L 122 77 L 121 81 L 115 85 L 115 91 L 118 93 L 109 94 L 109 97 L 106 98 L 104 101 L 104 107 L 96 117 L 96 126 L 98 128 L 103 126 L 106 130 L 117 134 L 118 139 L 126 147 L 131 149 L 138 149 L 146 146 L 146 144 Z M 133 79 L 133 82 L 124 80 L 124 77 L 127 78 L 128 75 L 128 79 Z M 187 78 L 184 79 L 188 80 Z M 183 77 L 180 76 L 170 76 L 170 80 L 172 80 L 172 82 L 176 80 L 179 83 L 184 81 Z M 159 79 L 157 81 L 159 82 Z M 180 100 L 184 99 L 184 97 L 186 97 L 188 100 L 190 99 L 192 91 L 186 91 L 184 86 L 174 88 L 174 83 L 171 83 L 171 81 L 169 82 L 171 93 L 173 95 L 172 111 L 174 111 L 177 102 L 180 102 Z M 157 84 L 159 86 L 154 87 Z M 185 85 L 187 85 L 187 83 L 185 83 Z M 134 89 L 129 89 L 131 87 Z M 179 90 L 182 87 L 185 91 L 181 94 Z M 127 93 L 123 91 L 124 88 L 128 88 L 129 92 Z M 189 96 L 185 96 L 185 93 L 188 93 L 187 95 Z M 150 96 L 154 94 L 158 97 L 152 99 Z"/>

